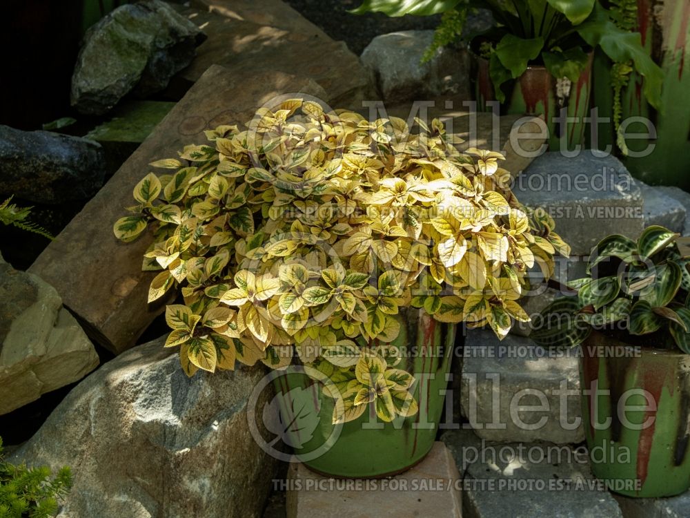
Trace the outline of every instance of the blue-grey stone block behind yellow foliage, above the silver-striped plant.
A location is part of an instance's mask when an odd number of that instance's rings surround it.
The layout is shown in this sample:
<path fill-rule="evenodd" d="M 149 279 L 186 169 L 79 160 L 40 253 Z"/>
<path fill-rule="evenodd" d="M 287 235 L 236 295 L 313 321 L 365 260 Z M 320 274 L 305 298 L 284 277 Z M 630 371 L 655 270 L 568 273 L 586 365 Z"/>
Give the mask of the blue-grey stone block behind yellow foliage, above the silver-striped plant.
<path fill-rule="evenodd" d="M 640 187 L 611 155 L 544 153 L 517 177 L 513 191 L 522 204 L 551 214 L 574 256 L 589 256 L 610 233 L 636 239 L 644 228 Z"/>

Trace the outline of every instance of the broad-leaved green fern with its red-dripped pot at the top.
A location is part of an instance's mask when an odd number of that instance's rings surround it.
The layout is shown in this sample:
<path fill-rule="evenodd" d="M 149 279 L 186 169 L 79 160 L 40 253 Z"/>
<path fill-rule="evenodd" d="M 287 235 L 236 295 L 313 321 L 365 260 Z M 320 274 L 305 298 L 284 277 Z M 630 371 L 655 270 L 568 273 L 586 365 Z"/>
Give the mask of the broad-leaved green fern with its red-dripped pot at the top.
<path fill-rule="evenodd" d="M 474 8 L 491 11 L 497 22 L 486 32 L 468 35 L 479 57 L 480 109 L 497 99 L 507 100 L 506 113 L 544 115 L 552 151 L 584 144 L 594 48 L 601 48 L 615 63 L 629 63 L 637 70 L 644 77 L 644 96 L 652 106 L 659 106 L 662 73 L 642 46 L 640 34 L 619 28 L 596 0 L 365 0 L 354 12 L 444 13 L 427 54 L 431 57 L 436 48 L 460 40 L 467 12 Z M 577 118 L 566 124 L 559 120 L 563 115 Z"/>

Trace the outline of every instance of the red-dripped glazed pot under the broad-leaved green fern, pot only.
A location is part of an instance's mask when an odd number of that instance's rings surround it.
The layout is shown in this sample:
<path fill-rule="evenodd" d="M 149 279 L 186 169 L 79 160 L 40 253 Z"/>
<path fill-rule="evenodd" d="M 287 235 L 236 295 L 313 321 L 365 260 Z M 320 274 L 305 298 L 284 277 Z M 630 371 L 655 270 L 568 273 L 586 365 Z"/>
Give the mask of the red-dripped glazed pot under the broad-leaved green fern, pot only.
<path fill-rule="evenodd" d="M 476 57 L 475 96 L 477 111 L 491 111 L 488 102 L 495 101 L 493 83 L 489 75 L 489 61 Z M 504 85 L 506 104 L 504 114 L 538 115 L 544 118 L 549 130 L 549 151 L 584 147 L 584 117 L 589 117 L 592 55 L 577 82 L 558 80 L 544 66 L 529 66 L 515 81 Z M 574 122 L 562 121 L 563 116 Z"/>

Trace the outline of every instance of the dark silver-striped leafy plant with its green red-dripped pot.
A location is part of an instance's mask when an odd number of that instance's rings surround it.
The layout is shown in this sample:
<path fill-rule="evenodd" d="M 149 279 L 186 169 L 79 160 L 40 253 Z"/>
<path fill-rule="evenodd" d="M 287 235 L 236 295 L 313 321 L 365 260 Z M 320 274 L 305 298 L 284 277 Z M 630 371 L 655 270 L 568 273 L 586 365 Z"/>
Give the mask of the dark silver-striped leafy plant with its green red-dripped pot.
<path fill-rule="evenodd" d="M 541 345 L 582 344 L 592 471 L 631 497 L 690 486 L 690 260 L 676 238 L 658 226 L 637 241 L 604 238 L 589 277 L 569 283 L 577 296 L 544 309 L 530 335 Z"/>

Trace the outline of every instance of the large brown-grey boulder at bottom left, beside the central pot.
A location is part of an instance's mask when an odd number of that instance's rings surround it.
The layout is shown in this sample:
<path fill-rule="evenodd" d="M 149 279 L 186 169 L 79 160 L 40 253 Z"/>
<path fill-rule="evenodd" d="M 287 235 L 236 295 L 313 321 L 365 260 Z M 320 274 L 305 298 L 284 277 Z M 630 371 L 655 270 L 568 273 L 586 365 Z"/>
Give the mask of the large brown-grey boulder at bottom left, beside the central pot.
<path fill-rule="evenodd" d="M 264 371 L 187 378 L 163 344 L 103 365 L 10 459 L 72 467 L 59 518 L 260 516 L 276 461 L 255 443 L 246 409 Z"/>

